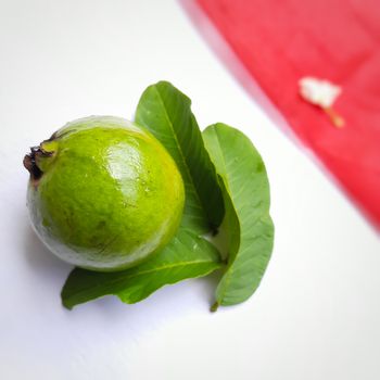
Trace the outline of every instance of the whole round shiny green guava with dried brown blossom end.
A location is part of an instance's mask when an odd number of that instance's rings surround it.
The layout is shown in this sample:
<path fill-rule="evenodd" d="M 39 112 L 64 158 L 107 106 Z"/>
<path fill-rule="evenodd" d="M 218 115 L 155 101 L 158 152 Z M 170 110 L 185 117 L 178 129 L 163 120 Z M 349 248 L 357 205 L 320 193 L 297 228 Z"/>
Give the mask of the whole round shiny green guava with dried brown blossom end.
<path fill-rule="evenodd" d="M 128 121 L 74 121 L 33 148 L 24 165 L 31 224 L 65 262 L 99 271 L 128 268 L 178 229 L 181 175 L 165 148 Z"/>

